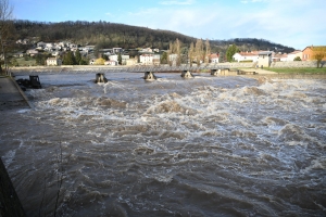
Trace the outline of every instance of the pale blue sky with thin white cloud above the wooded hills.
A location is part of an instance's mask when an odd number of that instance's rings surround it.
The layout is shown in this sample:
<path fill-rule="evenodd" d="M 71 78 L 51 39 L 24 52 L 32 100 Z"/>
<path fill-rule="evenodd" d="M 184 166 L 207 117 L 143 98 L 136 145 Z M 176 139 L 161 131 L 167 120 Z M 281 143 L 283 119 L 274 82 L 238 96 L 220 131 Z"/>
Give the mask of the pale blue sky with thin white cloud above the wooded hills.
<path fill-rule="evenodd" d="M 326 0 L 9 0 L 16 20 L 105 21 L 201 39 L 326 46 Z"/>

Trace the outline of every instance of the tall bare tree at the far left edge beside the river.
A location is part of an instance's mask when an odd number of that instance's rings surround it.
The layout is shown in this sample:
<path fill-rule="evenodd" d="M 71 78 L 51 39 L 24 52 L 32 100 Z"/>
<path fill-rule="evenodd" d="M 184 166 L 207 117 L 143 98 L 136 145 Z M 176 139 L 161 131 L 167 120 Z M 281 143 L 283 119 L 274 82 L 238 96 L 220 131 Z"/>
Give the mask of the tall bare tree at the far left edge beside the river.
<path fill-rule="evenodd" d="M 9 0 L 0 0 L 0 46 L 5 74 L 8 74 L 7 51 L 12 37 L 12 13 L 13 5 L 10 4 Z M 0 73 L 2 72 L 2 61 L 0 61 Z"/>

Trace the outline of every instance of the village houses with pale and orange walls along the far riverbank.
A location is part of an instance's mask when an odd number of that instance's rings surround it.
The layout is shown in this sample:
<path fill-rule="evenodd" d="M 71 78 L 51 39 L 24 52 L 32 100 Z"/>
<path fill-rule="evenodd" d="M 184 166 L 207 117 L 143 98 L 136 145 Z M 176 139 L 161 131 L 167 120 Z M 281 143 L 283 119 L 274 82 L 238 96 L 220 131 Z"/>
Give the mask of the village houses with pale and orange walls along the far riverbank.
<path fill-rule="evenodd" d="M 27 39 L 17 40 L 16 43 L 21 44 L 30 44 L 32 41 Z M 47 52 L 52 55 L 47 60 L 47 65 L 61 65 L 62 56 L 67 51 L 80 52 L 83 56 L 91 56 L 93 54 L 95 46 L 85 46 L 79 47 L 70 41 L 62 42 L 33 42 L 35 46 L 34 49 L 26 51 L 26 54 L 29 56 L 35 56 L 40 52 Z M 323 47 L 324 48 L 324 47 Z M 325 47 L 326 49 L 326 47 Z M 104 61 L 101 64 L 104 65 L 118 65 L 120 62 L 122 65 L 160 65 L 161 64 L 161 53 L 159 49 L 145 48 L 137 50 L 138 56 L 130 58 L 122 48 L 112 48 L 112 49 L 101 49 L 100 53 L 109 58 L 108 61 Z M 18 53 L 16 56 L 23 56 L 24 53 Z M 306 47 L 304 50 L 296 50 L 291 53 L 275 53 L 273 51 L 248 51 L 248 52 L 238 52 L 233 55 L 234 61 L 236 62 L 252 62 L 255 66 L 268 67 L 272 62 L 289 62 L 289 61 L 309 61 L 313 55 L 312 47 Z M 187 59 L 187 56 L 185 56 Z M 120 60 L 121 59 L 121 60 Z M 173 65 L 176 64 L 177 54 L 170 54 L 167 56 L 168 61 Z M 212 53 L 208 55 L 210 63 L 220 63 L 220 54 Z M 326 59 L 326 58 L 325 58 Z M 188 60 L 189 62 L 189 60 Z M 90 59 L 90 65 L 99 64 L 98 59 Z"/>

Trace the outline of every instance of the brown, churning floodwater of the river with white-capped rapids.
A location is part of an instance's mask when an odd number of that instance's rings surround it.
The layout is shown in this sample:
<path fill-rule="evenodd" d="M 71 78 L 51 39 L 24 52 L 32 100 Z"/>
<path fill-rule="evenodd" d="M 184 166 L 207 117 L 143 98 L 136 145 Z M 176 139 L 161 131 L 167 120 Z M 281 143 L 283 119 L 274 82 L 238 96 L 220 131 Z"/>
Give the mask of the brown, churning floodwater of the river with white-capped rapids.
<path fill-rule="evenodd" d="M 42 75 L 2 113 L 28 216 L 325 215 L 325 80 L 141 76 Z"/>

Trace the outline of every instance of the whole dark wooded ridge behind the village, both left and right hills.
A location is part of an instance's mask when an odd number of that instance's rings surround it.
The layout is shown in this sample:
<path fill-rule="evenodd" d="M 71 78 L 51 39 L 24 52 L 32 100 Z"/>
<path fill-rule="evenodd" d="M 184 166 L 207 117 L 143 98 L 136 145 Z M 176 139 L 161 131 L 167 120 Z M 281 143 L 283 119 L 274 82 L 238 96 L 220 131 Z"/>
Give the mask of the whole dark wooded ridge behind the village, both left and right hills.
<path fill-rule="evenodd" d="M 168 49 L 168 44 L 178 38 L 185 47 L 196 42 L 196 38 L 179 33 L 151 29 L 109 22 L 62 22 L 46 23 L 14 21 L 17 39 L 37 37 L 40 41 L 70 40 L 79 44 L 96 44 L 97 48 L 159 48 Z M 218 37 L 218 36 L 216 36 Z M 205 40 L 205 39 L 203 39 Z M 264 39 L 211 40 L 213 52 L 224 52 L 229 44 L 236 43 L 241 51 L 278 50 L 291 52 L 294 49 L 273 43 Z M 276 48 L 276 49 L 275 49 Z"/>

